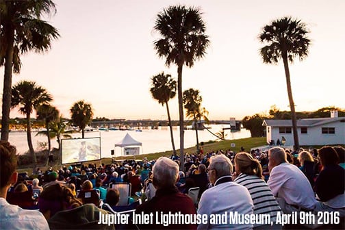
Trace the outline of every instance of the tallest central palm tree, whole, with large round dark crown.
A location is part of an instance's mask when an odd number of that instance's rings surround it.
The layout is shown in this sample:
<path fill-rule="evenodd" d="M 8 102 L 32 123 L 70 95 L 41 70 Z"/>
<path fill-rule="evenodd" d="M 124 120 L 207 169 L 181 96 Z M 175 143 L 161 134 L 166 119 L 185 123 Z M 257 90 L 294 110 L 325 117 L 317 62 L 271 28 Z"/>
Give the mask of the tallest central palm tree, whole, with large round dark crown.
<path fill-rule="evenodd" d="M 184 170 L 182 68 L 184 64 L 191 68 L 194 61 L 204 57 L 209 45 L 201 15 L 199 9 L 173 5 L 159 12 L 154 27 L 162 37 L 154 42 L 157 55 L 166 57 L 166 66 L 177 65 L 181 170 Z"/>

